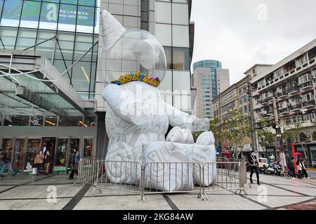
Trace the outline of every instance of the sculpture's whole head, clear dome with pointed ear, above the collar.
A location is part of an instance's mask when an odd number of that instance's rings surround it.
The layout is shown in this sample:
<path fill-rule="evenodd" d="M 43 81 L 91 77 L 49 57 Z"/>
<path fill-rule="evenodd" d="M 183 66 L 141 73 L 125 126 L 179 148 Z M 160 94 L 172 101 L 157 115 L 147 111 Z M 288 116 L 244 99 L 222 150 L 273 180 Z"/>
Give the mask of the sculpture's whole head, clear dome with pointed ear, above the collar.
<path fill-rule="evenodd" d="M 101 71 L 99 76 L 104 83 L 121 83 L 122 74 L 128 78 L 140 76 L 142 81 L 163 80 L 166 73 L 166 55 L 157 38 L 145 30 L 125 29 L 107 10 L 101 15 L 103 48 L 100 52 Z M 130 74 L 132 76 L 130 76 Z M 143 80 L 144 76 L 146 78 Z M 137 80 L 137 79 L 133 79 Z M 138 79 L 139 80 L 139 79 Z M 150 83 L 150 81 L 145 81 Z M 154 86 L 157 86 L 154 85 Z"/>

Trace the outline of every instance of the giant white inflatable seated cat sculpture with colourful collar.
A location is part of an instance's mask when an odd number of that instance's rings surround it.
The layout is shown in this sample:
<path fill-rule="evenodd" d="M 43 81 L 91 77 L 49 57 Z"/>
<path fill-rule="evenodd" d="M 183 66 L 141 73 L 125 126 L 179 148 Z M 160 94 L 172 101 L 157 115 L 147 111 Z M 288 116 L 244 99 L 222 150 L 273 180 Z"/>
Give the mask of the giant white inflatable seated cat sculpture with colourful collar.
<path fill-rule="evenodd" d="M 162 100 L 157 86 L 166 72 L 166 57 L 157 38 L 144 30 L 125 29 L 106 10 L 101 20 L 104 43 L 101 57 L 106 58 L 102 65 L 105 74 L 101 79 L 111 83 L 102 93 L 108 104 L 105 127 L 110 140 L 106 160 L 143 165 L 146 162 L 214 162 L 213 134 L 202 133 L 195 144 L 191 133 L 209 130 L 209 119 L 190 116 Z M 169 125 L 174 128 L 165 139 Z M 138 165 L 122 167 L 124 165 L 115 162 L 108 165 L 107 176 L 112 182 L 139 183 Z M 171 174 L 172 184 L 169 185 L 164 184 L 169 180 L 161 178 L 164 176 L 162 167 L 157 166 L 151 170 L 155 176 L 146 176 L 146 187 L 183 190 L 178 183 L 183 180 L 176 177 L 181 176 L 178 172 L 188 174 L 185 175 L 185 188 L 200 183 L 209 186 L 216 178 L 216 167 L 204 173 L 204 183 L 197 175 L 197 167 L 181 168 L 166 169 Z"/>

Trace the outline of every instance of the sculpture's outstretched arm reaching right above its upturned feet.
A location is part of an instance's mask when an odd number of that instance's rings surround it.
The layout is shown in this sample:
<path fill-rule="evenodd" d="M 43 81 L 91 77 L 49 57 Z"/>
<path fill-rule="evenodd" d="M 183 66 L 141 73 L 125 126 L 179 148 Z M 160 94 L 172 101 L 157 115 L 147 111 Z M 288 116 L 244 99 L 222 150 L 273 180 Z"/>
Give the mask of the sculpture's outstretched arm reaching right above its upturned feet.
<path fill-rule="evenodd" d="M 209 130 L 209 118 L 197 118 L 174 108 L 166 102 L 162 102 L 162 104 L 164 104 L 168 115 L 169 125 L 172 127 L 179 126 L 190 129 L 192 132 Z"/>

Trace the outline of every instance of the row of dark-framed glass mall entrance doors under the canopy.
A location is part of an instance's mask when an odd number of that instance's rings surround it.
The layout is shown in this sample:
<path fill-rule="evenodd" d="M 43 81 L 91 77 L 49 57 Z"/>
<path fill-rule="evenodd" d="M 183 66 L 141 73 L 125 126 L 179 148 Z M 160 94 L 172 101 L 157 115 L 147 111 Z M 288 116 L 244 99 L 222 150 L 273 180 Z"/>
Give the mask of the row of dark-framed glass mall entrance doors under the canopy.
<path fill-rule="evenodd" d="M 33 173 L 34 160 L 40 150 L 51 154 L 49 173 L 68 173 L 72 169 L 72 152 L 79 151 L 81 157 L 93 156 L 94 137 L 6 137 L 0 138 L 1 153 L 13 148 L 13 169 L 22 173 Z M 43 169 L 44 172 L 44 169 Z"/>

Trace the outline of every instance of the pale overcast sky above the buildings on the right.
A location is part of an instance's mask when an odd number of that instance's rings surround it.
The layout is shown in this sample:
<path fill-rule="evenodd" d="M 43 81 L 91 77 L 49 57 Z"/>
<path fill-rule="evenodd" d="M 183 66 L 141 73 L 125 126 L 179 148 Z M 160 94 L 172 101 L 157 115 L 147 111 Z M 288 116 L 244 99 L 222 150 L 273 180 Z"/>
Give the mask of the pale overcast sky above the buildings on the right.
<path fill-rule="evenodd" d="M 275 64 L 315 39 L 315 9 L 315 0 L 193 0 L 192 64 L 217 59 L 236 83 L 254 64 Z"/>

